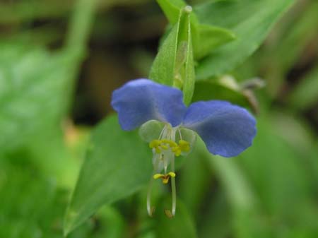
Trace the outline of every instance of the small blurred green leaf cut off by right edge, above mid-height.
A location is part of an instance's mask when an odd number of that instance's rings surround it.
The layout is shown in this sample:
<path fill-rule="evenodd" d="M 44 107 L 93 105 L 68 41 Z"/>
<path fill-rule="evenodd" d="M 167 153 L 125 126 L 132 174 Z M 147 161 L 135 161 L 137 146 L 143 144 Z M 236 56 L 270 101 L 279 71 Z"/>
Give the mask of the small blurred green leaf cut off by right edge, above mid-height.
<path fill-rule="evenodd" d="M 305 110 L 318 103 L 318 66 L 302 78 L 290 95 L 290 104 L 296 109 Z"/>

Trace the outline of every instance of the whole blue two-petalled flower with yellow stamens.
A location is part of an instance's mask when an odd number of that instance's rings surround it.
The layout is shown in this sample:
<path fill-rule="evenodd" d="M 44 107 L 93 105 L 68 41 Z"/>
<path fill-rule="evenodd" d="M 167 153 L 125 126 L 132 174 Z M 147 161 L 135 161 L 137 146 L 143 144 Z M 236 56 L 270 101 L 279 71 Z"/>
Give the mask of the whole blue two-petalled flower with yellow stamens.
<path fill-rule="evenodd" d="M 182 91 L 148 79 L 129 81 L 114 90 L 112 107 L 118 113 L 119 124 L 125 131 L 153 120 L 163 123 L 159 135 L 154 135 L 158 137 L 149 141 L 149 145 L 153 150 L 153 166 L 157 172 L 153 177 L 163 179 L 164 184 L 171 178 L 172 203 L 175 156 L 189 153 L 196 133 L 210 153 L 223 157 L 242 153 L 252 145 L 256 134 L 256 121 L 246 109 L 219 100 L 194 102 L 186 107 Z M 160 174 L 163 170 L 164 173 Z M 148 213 L 152 214 L 149 207 Z M 173 204 L 172 215 L 175 215 Z"/>

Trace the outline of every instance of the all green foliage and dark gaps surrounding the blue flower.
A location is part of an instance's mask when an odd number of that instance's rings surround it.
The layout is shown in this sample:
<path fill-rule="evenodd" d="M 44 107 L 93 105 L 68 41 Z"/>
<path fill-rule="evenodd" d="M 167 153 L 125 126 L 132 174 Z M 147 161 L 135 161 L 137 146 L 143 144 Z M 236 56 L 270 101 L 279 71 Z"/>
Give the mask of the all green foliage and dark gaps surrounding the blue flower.
<path fill-rule="evenodd" d="M 318 236 L 317 1 L 188 4 L 1 1 L 0 237 Z M 146 215 L 151 151 L 110 107 L 149 73 L 257 114 L 240 156 L 179 161 L 172 220 L 160 184 Z"/>

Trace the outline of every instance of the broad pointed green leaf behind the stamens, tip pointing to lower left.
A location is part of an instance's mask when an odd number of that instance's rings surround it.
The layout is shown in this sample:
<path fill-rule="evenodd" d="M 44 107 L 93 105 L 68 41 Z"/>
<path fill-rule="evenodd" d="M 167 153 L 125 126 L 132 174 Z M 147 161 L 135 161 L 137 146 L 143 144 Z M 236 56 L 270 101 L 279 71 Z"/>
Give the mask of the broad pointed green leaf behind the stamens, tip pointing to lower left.
<path fill-rule="evenodd" d="M 95 128 L 81 173 L 66 211 L 68 234 L 100 206 L 141 189 L 151 178 L 151 150 L 136 131 L 122 131 L 117 117 Z"/>

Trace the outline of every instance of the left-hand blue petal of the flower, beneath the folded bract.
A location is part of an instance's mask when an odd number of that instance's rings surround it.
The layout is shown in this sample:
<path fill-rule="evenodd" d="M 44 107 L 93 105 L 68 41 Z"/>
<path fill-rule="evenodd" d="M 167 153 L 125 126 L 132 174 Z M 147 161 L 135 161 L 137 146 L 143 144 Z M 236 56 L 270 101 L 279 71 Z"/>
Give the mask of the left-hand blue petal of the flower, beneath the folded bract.
<path fill-rule="evenodd" d="M 125 131 L 152 119 L 177 126 L 187 110 L 180 90 L 148 79 L 129 81 L 114 90 L 112 107 L 118 112 L 119 124 Z"/>

